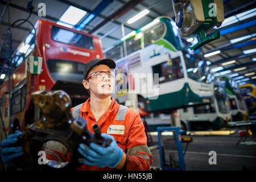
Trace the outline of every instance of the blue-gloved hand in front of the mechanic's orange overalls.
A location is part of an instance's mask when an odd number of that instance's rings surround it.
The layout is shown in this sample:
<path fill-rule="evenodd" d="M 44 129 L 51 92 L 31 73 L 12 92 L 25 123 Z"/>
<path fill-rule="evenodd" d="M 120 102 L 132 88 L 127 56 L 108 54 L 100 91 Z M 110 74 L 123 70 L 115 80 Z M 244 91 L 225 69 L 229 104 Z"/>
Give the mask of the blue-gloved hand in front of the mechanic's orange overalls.
<path fill-rule="evenodd" d="M 114 168 L 123 157 L 123 150 L 118 147 L 114 137 L 108 134 L 101 134 L 104 138 L 112 139 L 109 147 L 101 147 L 98 144 L 90 143 L 90 147 L 84 143 L 79 145 L 78 151 L 84 158 L 79 158 L 79 162 L 89 166 Z"/>

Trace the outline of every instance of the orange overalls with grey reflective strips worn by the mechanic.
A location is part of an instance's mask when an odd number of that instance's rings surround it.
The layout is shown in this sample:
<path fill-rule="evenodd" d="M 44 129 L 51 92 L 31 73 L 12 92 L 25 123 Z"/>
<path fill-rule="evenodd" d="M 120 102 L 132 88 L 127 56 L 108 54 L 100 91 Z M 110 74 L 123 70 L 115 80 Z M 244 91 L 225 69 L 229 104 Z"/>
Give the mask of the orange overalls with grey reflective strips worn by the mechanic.
<path fill-rule="evenodd" d="M 126 153 L 125 170 L 150 170 L 152 155 L 147 147 L 147 137 L 139 114 L 123 105 L 119 105 L 114 98 L 109 109 L 96 121 L 89 107 L 90 98 L 71 110 L 87 121 L 88 130 L 93 133 L 92 125 L 97 123 L 101 132 L 112 135 L 118 146 Z M 120 108 L 119 108 L 120 107 Z M 77 170 L 115 170 L 109 167 L 99 168 L 82 164 Z"/>

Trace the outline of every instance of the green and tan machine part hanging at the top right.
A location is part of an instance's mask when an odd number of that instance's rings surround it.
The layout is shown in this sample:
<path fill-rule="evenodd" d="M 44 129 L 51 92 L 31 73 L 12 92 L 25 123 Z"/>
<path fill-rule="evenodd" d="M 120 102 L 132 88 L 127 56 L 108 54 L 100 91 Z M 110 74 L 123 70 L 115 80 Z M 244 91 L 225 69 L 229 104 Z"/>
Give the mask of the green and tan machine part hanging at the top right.
<path fill-rule="evenodd" d="M 222 0 L 172 0 L 172 6 L 180 35 L 196 35 L 199 38 L 199 42 L 190 47 L 191 50 L 196 51 L 204 44 L 220 38 L 220 31 L 207 34 L 214 26 L 220 27 L 224 21 Z"/>

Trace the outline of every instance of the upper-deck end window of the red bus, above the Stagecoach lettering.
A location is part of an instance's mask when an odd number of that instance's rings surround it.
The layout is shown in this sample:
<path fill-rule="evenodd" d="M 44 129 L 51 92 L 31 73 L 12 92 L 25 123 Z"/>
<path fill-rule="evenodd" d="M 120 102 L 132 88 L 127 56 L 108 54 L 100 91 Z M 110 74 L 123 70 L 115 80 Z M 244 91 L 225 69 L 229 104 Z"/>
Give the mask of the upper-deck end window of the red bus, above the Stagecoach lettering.
<path fill-rule="evenodd" d="M 51 27 L 52 40 L 57 42 L 71 44 L 72 46 L 78 46 L 86 49 L 94 49 L 93 38 L 90 36 L 78 34 L 63 28 Z"/>

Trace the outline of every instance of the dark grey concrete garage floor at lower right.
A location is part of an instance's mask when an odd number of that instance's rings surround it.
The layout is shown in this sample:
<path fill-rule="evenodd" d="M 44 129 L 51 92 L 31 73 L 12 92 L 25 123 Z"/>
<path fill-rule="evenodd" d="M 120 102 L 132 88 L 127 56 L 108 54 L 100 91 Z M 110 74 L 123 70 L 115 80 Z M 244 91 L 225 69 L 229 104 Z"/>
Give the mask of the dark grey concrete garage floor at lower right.
<path fill-rule="evenodd" d="M 185 137 L 185 136 L 183 136 Z M 192 142 L 185 154 L 186 171 L 256 171 L 256 142 L 247 138 L 247 144 L 236 145 L 240 136 L 236 131 L 232 135 L 214 136 L 190 136 Z M 153 143 L 150 146 L 158 145 L 158 137 L 152 136 Z M 174 141 L 166 140 L 164 137 L 164 152 L 166 160 L 169 161 L 170 152 L 174 152 L 175 160 L 178 162 L 177 148 Z M 256 141 L 256 138 L 253 138 Z M 186 143 L 183 143 L 183 150 Z M 151 148 L 151 147 L 150 147 Z M 217 164 L 209 164 L 209 151 L 216 151 Z M 151 151 L 153 155 L 152 167 L 160 166 L 160 156 L 158 148 Z"/>

